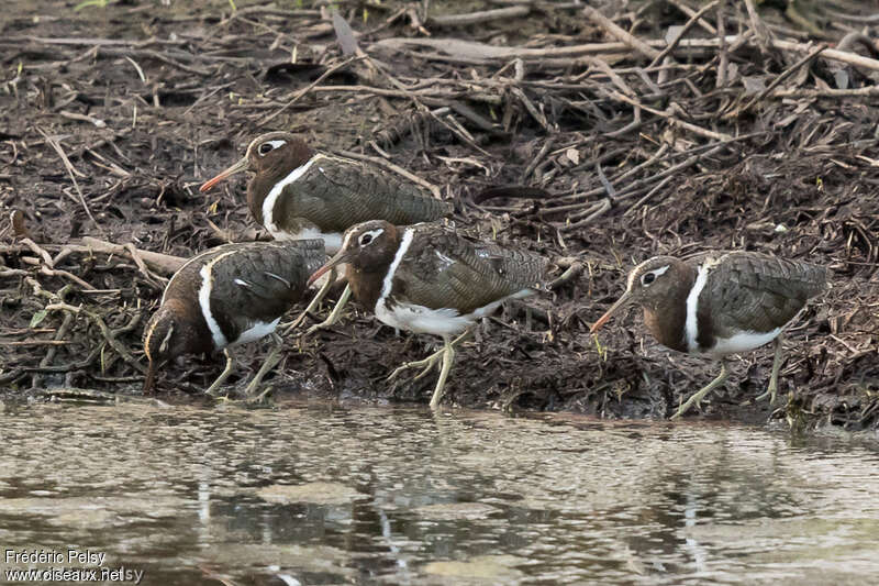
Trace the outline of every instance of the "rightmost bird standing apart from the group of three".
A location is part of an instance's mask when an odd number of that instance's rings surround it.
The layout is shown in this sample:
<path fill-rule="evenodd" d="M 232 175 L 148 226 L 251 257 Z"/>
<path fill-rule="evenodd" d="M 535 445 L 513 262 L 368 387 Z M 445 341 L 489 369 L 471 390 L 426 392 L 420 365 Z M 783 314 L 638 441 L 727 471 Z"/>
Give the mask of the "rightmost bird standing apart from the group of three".
<path fill-rule="evenodd" d="M 701 262 L 655 256 L 632 269 L 625 292 L 590 331 L 597 332 L 611 316 L 636 303 L 644 309 L 644 323 L 660 344 L 721 361 L 720 375 L 690 396 L 671 419 L 723 385 L 728 355 L 774 342 L 769 387 L 757 397 L 769 396 L 774 405 L 781 332 L 809 299 L 826 288 L 828 278 L 826 267 L 757 252 L 701 255 Z"/>

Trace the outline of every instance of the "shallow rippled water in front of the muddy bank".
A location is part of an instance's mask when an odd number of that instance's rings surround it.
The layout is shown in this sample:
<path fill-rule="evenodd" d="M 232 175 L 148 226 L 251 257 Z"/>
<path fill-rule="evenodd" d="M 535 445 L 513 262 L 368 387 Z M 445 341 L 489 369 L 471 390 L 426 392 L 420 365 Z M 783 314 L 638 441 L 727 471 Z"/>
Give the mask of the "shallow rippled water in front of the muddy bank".
<path fill-rule="evenodd" d="M 7 405 L 0 433 L 4 555 L 65 557 L 3 572 L 124 566 L 162 585 L 879 575 L 879 451 L 850 439 L 326 405 Z M 70 549 L 107 559 L 68 563 Z"/>

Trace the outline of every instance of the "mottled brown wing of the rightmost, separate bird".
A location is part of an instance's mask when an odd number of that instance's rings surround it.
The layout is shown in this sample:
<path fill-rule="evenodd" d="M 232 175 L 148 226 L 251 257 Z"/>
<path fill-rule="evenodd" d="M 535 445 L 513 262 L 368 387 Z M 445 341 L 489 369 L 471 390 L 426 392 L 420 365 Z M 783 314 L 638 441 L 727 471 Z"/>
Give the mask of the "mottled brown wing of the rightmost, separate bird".
<path fill-rule="evenodd" d="M 809 298 L 824 290 L 827 269 L 765 254 L 724 255 L 709 274 L 700 310 L 711 311 L 713 334 L 769 332 L 787 324 Z M 702 303 L 710 299 L 711 303 Z"/>

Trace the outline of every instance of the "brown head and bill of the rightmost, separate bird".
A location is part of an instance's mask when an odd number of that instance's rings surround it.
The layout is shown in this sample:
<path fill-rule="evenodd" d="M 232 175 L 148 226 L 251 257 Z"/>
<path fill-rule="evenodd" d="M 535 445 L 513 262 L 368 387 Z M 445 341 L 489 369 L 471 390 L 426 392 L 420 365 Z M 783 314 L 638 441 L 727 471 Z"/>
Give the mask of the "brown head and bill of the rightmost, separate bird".
<path fill-rule="evenodd" d="M 611 316 L 631 303 L 644 308 L 648 327 L 653 318 L 664 320 L 677 309 L 686 310 L 683 301 L 693 284 L 692 273 L 692 267 L 674 256 L 655 256 L 641 263 L 628 274 L 625 292 L 592 324 L 590 332 L 598 331 Z"/>

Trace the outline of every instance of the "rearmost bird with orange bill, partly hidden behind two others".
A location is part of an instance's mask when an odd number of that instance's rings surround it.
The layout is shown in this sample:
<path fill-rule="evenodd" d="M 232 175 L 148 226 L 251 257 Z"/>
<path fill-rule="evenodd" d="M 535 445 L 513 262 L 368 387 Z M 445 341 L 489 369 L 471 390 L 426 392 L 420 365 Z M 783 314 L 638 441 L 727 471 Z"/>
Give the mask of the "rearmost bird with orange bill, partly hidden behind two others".
<path fill-rule="evenodd" d="M 289 132 L 269 132 L 254 139 L 244 157 L 200 190 L 244 170 L 254 172 L 247 185 L 247 206 L 254 220 L 276 240 L 322 239 L 326 253 L 338 252 L 342 233 L 368 220 L 414 224 L 439 220 L 452 206 L 426 195 L 421 187 L 400 176 L 360 161 L 314 151 Z M 335 280 L 335 272 L 309 307 L 287 331 L 301 323 L 318 307 Z M 351 296 L 346 287 L 333 312 L 308 333 L 335 323 Z"/>

